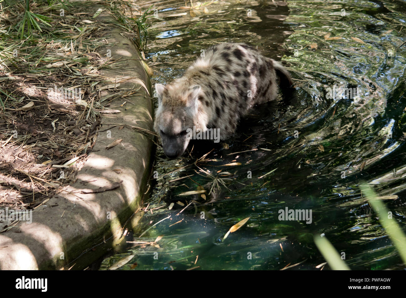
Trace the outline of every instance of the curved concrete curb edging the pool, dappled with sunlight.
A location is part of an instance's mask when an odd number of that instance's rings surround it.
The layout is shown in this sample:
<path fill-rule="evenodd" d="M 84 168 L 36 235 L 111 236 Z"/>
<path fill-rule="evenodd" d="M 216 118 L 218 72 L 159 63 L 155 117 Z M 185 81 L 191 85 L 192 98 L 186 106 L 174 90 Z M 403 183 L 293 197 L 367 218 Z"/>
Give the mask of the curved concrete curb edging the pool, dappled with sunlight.
<path fill-rule="evenodd" d="M 114 18 L 104 13 L 97 19 L 108 21 Z M 120 64 L 117 64 L 121 68 L 120 72 L 117 69 L 114 72 L 102 71 L 102 75 L 117 79 L 136 77 L 122 82 L 120 88 L 141 88 L 137 92 L 139 95 L 130 96 L 134 105 L 127 102 L 123 107 L 114 107 L 121 113 L 114 117 L 103 116 L 102 122 L 123 123 L 152 130 L 151 82 L 138 60 L 138 50 L 120 32 L 119 28 L 114 27 L 106 30 L 105 34 L 108 44 L 116 43 L 106 49 L 111 50 L 113 60 L 120 59 Z M 111 106 L 119 106 L 121 103 L 122 100 L 115 100 Z M 101 130 L 106 126 L 103 125 Z M 19 233 L 12 232 L 15 230 L 13 228 L 0 234 L 1 270 L 62 268 L 86 249 L 102 242 L 104 237 L 113 236 L 115 242 L 119 240 L 123 224 L 141 204 L 151 170 L 153 147 L 149 137 L 125 126 L 123 129 L 116 126 L 109 130 L 110 138 L 107 132 L 97 135 L 93 151 L 78 173 L 76 182 L 67 189 L 71 193 L 62 192 L 52 197 L 46 205 L 34 210 L 31 224 L 18 224 Z M 106 150 L 105 146 L 118 138 L 123 139 L 121 144 Z M 80 193 L 80 189 L 97 189 L 121 180 L 121 186 L 113 190 Z M 80 183 L 83 181 L 91 182 L 84 185 Z M 141 216 L 142 212 L 138 212 L 132 217 L 132 226 L 136 225 Z M 94 251 L 86 257 L 86 262 L 91 264 L 102 254 L 102 251 Z"/>

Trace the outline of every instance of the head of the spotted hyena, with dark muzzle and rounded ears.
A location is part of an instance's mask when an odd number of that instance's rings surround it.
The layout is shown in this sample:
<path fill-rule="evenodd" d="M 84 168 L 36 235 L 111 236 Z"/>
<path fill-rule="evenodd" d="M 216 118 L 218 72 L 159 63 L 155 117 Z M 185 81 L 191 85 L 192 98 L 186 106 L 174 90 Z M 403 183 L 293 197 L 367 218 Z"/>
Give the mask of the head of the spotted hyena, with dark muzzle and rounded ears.
<path fill-rule="evenodd" d="M 180 157 L 188 147 L 190 130 L 198 126 L 200 86 L 155 84 L 158 108 L 154 129 L 160 134 L 162 147 L 169 158 Z"/>

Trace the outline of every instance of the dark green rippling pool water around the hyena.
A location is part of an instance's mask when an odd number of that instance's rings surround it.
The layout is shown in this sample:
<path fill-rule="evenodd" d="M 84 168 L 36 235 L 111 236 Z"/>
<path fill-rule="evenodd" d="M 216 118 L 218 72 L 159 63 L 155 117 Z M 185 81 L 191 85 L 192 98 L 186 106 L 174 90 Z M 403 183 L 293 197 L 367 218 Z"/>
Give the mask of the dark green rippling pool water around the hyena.
<path fill-rule="evenodd" d="M 254 109 L 227 145 L 195 143 L 190 156 L 175 161 L 158 149 L 158 179 L 151 180 L 148 209 L 163 207 L 144 215 L 135 236 L 170 218 L 134 240 L 162 239 L 158 245 L 138 245 L 108 257 L 102 269 L 133 253 L 121 269 L 279 270 L 300 263 L 292 269 L 320 270 L 315 267 L 325 260 L 313 236 L 322 233 L 345 254 L 351 269 L 405 268 L 359 185 L 369 183 L 380 196 L 398 195 L 384 202 L 406 230 L 406 4 L 277 4 L 218 1 L 192 16 L 179 9 L 185 6 L 182 1 L 145 4 L 159 7 L 160 19 L 151 19 L 146 55 L 156 57 L 150 64 L 156 74 L 153 83 L 181 76 L 209 45 L 245 42 L 283 60 L 296 92 Z M 169 17 L 179 13 L 187 15 Z M 340 87 L 355 88 L 356 96 L 328 94 L 328 88 Z M 225 166 L 229 163 L 241 165 Z M 167 174 L 179 167 L 184 168 Z M 227 178 L 225 185 L 216 180 L 221 189 L 215 184 L 215 193 L 207 172 Z M 205 199 L 178 196 L 197 189 L 206 190 Z M 178 201 L 191 203 L 179 215 L 184 206 Z M 171 202 L 175 205 L 168 210 Z M 311 210 L 311 223 L 280 221 L 279 210 L 285 208 Z M 246 225 L 222 241 L 229 228 L 246 217 Z"/>

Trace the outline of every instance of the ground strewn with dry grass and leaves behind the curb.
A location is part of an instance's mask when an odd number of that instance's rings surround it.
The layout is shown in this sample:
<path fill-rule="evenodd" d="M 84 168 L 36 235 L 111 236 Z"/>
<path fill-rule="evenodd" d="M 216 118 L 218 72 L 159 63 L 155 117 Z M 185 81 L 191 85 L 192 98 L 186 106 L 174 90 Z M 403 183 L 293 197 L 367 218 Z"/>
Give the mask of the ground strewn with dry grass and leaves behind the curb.
<path fill-rule="evenodd" d="M 100 69 L 117 67 L 103 54 L 104 29 L 119 26 L 132 35 L 140 29 L 119 13 L 128 10 L 125 2 L 38 1 L 29 11 L 47 21 L 34 14 L 23 31 L 24 3 L 0 6 L 0 207 L 29 209 L 74 182 L 97 140 L 101 113 L 112 112 L 112 100 L 129 102 L 138 92 L 117 90 L 119 81 Z M 97 6 L 117 22 L 93 18 Z"/>

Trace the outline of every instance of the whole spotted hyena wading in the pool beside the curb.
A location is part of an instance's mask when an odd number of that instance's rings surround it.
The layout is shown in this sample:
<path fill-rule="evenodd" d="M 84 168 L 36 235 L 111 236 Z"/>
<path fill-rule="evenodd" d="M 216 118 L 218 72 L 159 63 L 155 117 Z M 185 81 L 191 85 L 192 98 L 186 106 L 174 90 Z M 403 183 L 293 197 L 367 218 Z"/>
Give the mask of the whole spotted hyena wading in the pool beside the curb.
<path fill-rule="evenodd" d="M 220 139 L 234 133 L 248 109 L 271 101 L 292 85 L 279 62 L 244 43 L 221 43 L 205 51 L 172 84 L 155 84 L 158 108 L 154 129 L 169 158 L 181 156 L 189 144 L 188 129 L 219 129 Z"/>

